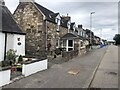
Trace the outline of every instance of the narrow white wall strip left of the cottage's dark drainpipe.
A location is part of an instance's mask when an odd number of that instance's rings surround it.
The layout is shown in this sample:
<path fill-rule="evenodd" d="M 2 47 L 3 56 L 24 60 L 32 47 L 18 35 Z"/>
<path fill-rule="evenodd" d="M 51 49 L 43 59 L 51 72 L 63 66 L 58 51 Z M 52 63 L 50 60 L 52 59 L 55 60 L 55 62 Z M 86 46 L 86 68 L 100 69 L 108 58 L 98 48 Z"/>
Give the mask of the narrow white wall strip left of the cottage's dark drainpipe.
<path fill-rule="evenodd" d="M 0 32 L 0 61 L 4 60 L 5 34 Z"/>

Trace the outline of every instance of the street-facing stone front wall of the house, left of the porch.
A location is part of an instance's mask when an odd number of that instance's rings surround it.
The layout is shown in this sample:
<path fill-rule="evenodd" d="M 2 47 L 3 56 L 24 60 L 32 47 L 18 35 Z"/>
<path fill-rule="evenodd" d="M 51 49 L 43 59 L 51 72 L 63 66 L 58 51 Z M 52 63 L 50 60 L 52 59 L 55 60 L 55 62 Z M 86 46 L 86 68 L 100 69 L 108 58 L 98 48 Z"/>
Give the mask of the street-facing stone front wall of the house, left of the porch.
<path fill-rule="evenodd" d="M 47 42 L 51 43 L 50 51 L 56 49 L 56 41 L 59 40 L 68 32 L 67 28 L 59 26 L 59 31 L 57 31 L 57 24 L 47 22 Z"/>

